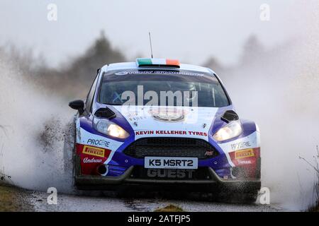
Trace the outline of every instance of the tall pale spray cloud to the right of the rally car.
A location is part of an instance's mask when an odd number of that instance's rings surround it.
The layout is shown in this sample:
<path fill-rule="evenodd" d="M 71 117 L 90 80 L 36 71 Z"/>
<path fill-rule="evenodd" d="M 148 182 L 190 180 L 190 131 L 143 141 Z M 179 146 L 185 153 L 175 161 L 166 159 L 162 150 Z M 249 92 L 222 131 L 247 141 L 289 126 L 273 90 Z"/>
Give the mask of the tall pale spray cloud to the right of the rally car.
<path fill-rule="evenodd" d="M 224 79 L 240 117 L 259 124 L 262 186 L 271 190 L 272 203 L 291 210 L 305 210 L 315 201 L 317 177 L 299 156 L 313 162 L 319 144 L 318 7 L 312 1 L 302 14 L 302 36 Z"/>

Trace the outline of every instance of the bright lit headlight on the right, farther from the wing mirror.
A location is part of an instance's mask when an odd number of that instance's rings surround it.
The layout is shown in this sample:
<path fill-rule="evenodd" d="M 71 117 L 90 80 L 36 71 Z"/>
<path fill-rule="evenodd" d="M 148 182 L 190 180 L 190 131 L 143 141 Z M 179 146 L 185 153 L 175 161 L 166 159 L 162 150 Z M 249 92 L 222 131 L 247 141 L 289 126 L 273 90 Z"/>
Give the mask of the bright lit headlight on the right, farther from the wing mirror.
<path fill-rule="evenodd" d="M 226 141 L 228 139 L 234 138 L 235 136 L 240 136 L 240 133 L 242 133 L 242 125 L 240 124 L 240 121 L 231 121 L 223 128 L 220 128 L 213 135 L 213 138 L 216 141 Z"/>

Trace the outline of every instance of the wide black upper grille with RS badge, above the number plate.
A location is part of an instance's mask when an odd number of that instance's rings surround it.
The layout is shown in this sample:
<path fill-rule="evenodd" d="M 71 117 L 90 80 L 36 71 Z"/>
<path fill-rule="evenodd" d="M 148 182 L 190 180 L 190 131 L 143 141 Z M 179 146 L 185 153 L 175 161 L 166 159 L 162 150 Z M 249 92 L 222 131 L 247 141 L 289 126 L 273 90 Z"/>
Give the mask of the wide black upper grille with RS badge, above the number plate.
<path fill-rule="evenodd" d="M 207 141 L 195 138 L 140 138 L 125 148 L 123 153 L 135 158 L 198 157 L 198 160 L 218 155 L 217 150 Z"/>

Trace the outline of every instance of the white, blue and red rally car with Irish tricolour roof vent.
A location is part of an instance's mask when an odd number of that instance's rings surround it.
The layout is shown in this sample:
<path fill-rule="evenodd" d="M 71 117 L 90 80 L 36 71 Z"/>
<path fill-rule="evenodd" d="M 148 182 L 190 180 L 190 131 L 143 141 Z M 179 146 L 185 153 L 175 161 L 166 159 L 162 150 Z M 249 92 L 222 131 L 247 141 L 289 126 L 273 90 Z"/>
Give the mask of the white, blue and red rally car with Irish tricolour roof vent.
<path fill-rule="evenodd" d="M 211 69 L 167 59 L 109 64 L 86 101 L 69 107 L 78 110 L 78 189 L 177 185 L 257 197 L 258 126 L 239 119 Z"/>

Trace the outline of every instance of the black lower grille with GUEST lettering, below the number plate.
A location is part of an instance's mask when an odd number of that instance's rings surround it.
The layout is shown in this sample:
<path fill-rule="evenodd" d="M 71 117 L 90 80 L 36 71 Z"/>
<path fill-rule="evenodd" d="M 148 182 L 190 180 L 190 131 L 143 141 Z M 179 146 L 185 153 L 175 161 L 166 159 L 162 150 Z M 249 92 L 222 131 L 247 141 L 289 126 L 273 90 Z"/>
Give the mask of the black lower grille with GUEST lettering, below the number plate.
<path fill-rule="evenodd" d="M 198 169 L 145 169 L 135 166 L 131 179 L 174 179 L 174 180 L 206 180 L 211 179 L 208 167 Z"/>

